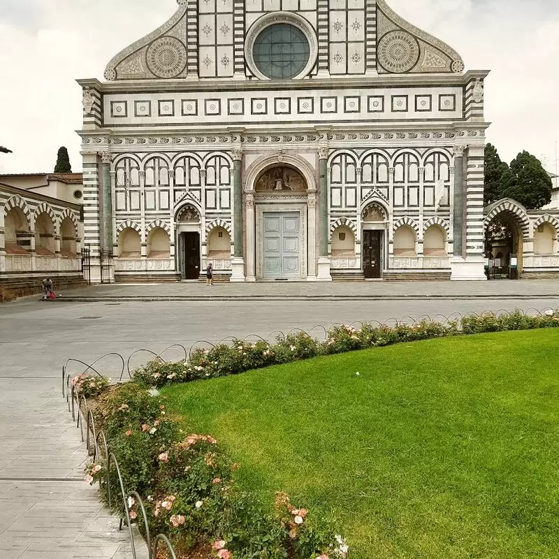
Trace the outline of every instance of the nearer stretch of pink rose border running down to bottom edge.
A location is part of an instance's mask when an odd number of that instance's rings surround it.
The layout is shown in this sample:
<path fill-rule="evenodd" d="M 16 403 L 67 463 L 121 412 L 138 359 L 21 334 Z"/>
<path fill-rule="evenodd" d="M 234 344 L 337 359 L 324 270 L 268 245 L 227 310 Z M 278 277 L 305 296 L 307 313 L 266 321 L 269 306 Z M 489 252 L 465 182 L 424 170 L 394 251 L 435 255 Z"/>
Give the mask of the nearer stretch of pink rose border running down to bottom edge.
<path fill-rule="evenodd" d="M 347 544 L 333 525 L 293 507 L 278 495 L 273 514 L 254 495 L 235 487 L 231 463 L 210 435 L 189 433 L 187 421 L 167 413 L 164 398 L 137 382 L 102 391 L 89 401 L 96 428 L 106 435 L 119 463 L 107 472 L 107 461 L 87 466 L 86 480 L 99 483 L 100 495 L 114 511 L 107 484 L 140 495 L 150 533 L 166 535 L 177 557 L 220 559 L 344 559 Z M 117 501 L 118 503 L 118 501 Z M 143 511 L 127 500 L 128 516 L 144 533 Z"/>

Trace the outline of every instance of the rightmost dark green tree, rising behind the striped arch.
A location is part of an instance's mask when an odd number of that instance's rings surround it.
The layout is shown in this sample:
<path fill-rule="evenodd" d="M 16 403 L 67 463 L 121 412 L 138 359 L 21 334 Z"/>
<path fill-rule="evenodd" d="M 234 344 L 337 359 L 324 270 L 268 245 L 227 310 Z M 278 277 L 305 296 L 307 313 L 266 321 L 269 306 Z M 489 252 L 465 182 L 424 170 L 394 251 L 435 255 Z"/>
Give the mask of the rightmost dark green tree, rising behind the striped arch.
<path fill-rule="evenodd" d="M 501 197 L 513 198 L 527 210 L 537 210 L 551 202 L 553 182 L 537 157 L 524 151 L 511 161 L 501 179 Z"/>

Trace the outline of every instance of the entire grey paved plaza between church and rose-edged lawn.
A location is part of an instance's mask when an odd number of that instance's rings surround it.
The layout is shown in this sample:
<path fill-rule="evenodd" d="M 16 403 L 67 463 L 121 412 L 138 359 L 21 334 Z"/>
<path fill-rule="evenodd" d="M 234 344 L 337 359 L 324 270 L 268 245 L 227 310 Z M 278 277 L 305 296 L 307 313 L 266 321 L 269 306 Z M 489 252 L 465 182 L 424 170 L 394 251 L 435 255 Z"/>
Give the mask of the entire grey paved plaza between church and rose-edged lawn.
<path fill-rule="evenodd" d="M 493 289 L 495 284 L 483 284 Z M 419 284 L 398 284 L 404 296 L 419 296 Z M 481 285 L 481 284 L 480 284 Z M 291 328 L 405 316 L 431 317 L 453 312 L 528 310 L 558 307 L 556 282 L 499 282 L 500 289 L 523 290 L 509 298 L 460 299 L 477 285 L 460 284 L 456 300 L 259 300 L 231 299 L 98 300 L 81 303 L 40 303 L 38 297 L 0 305 L 0 557 L 2 559 L 131 559 L 126 532 L 103 510 L 96 489 L 82 480 L 87 456 L 80 432 L 61 396 L 61 365 L 68 357 L 92 361 L 110 351 L 127 358 L 135 349 L 161 351 L 170 344 L 190 347 L 198 340 L 218 342 L 230 335 L 267 336 Z M 259 286 L 197 284 L 162 286 L 108 286 L 82 290 L 99 298 L 102 293 L 340 293 L 342 286 L 262 284 Z M 426 286 L 429 294 L 441 284 Z M 393 284 L 349 286 L 352 293 L 393 289 Z M 445 287 L 446 289 L 446 287 Z M 210 291 L 213 290 L 213 291 Z M 521 291 L 518 291 L 521 293 Z M 532 295 L 530 295 L 532 293 Z M 514 293 L 513 293 L 514 295 Z M 518 298 L 521 297 L 521 298 Z M 178 356 L 178 355 L 177 355 Z M 137 356 L 133 365 L 142 361 Z M 117 361 L 101 370 L 114 376 Z M 75 370 L 74 372 L 80 372 Z M 141 555 L 140 555 L 141 556 Z"/>

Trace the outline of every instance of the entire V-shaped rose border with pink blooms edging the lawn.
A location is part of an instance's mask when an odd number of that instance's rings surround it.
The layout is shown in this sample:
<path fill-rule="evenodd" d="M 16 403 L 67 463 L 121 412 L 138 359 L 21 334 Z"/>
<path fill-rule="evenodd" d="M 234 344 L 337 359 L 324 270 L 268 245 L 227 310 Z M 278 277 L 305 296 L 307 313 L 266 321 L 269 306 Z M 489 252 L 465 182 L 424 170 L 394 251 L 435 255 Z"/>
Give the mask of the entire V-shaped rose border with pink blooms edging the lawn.
<path fill-rule="evenodd" d="M 294 507 L 282 493 L 269 512 L 253 494 L 240 492 L 234 477 L 239 465 L 231 463 L 210 435 L 191 433 L 187 418 L 169 414 L 157 388 L 401 342 L 558 327 L 559 311 L 537 317 L 522 312 L 500 317 L 482 314 L 447 324 L 340 325 L 328 331 L 324 342 L 299 332 L 280 337 L 275 344 L 233 340 L 231 345 L 196 349 L 187 361 L 178 363 L 158 358 L 119 386 L 85 375 L 72 382 L 77 399 L 89 399 L 96 428 L 103 431 L 110 453 L 118 459 L 124 491 L 136 491 L 142 507 L 145 504 L 144 516 L 138 500 L 129 497 L 128 518 L 144 532 L 167 535 L 177 557 L 344 559 L 347 543 L 328 519 Z M 119 479 L 107 461 L 108 456 L 90 464 L 86 479 L 99 482 L 101 498 L 111 507 L 107 486 L 117 486 Z M 122 513 L 122 507 L 112 509 Z"/>

